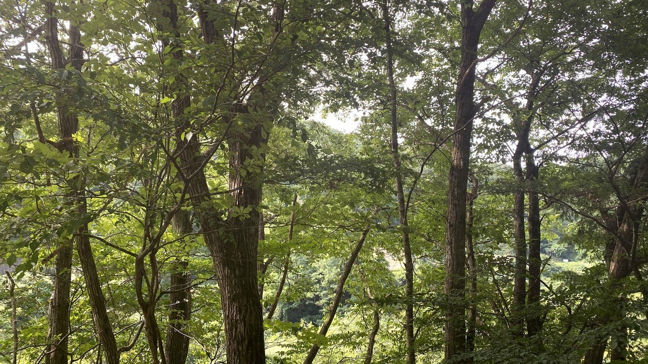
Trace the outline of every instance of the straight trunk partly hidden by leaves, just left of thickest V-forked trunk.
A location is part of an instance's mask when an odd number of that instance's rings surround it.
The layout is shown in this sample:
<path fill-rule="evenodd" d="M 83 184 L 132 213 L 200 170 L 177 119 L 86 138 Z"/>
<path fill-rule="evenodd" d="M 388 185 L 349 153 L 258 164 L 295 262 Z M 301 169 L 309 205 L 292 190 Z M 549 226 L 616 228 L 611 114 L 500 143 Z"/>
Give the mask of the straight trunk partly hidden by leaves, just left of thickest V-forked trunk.
<path fill-rule="evenodd" d="M 178 210 L 173 217 L 173 230 L 185 236 L 192 231 L 189 212 Z M 170 308 L 168 313 L 167 341 L 165 353 L 167 364 L 185 364 L 189 354 L 189 333 L 191 319 L 191 275 L 187 262 L 178 259 L 171 267 Z"/>

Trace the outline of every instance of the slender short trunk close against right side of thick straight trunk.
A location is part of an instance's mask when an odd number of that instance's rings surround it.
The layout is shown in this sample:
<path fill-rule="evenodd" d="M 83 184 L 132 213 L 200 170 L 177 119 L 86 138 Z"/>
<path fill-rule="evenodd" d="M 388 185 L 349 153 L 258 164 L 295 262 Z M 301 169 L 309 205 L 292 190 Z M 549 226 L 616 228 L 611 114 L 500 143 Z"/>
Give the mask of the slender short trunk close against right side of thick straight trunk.
<path fill-rule="evenodd" d="M 473 205 L 478 196 L 478 180 L 474 174 L 470 175 L 470 177 L 472 188 L 470 189 L 470 194 L 468 196 L 468 212 L 466 216 L 466 227 L 468 229 L 466 247 L 468 249 L 468 274 L 470 277 L 470 305 L 468 312 L 468 330 L 466 333 L 466 351 L 472 353 L 475 350 L 477 332 L 477 262 L 475 259 L 475 248 L 472 239 L 474 233 L 472 229 L 474 222 Z M 469 364 L 472 364 L 472 362 L 473 358 L 471 356 Z"/>

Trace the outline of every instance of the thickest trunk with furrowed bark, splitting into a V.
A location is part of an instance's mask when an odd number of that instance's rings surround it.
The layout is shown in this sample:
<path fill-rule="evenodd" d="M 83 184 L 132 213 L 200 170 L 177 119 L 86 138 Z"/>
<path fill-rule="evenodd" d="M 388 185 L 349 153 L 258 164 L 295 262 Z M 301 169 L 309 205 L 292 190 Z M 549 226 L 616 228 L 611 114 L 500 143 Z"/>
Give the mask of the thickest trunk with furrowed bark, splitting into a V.
<path fill-rule="evenodd" d="M 170 31 L 178 34 L 178 7 L 172 1 L 167 6 L 164 15 L 169 21 Z M 218 33 L 207 9 L 209 6 L 199 5 L 202 35 L 206 43 L 215 43 Z M 174 57 L 182 58 L 182 51 L 174 52 Z M 248 98 L 248 103 L 253 108 L 256 108 L 255 102 L 264 105 L 270 102 L 260 101 L 252 95 Z M 172 103 L 172 108 L 185 110 L 189 103 L 189 95 L 183 90 L 181 97 Z M 248 109 L 248 104 L 237 104 L 230 111 L 238 113 L 242 108 Z M 176 151 L 181 167 L 180 176 L 187 185 L 220 287 L 227 363 L 264 364 L 264 329 L 257 280 L 261 179 L 259 172 L 248 171 L 246 163 L 259 158 L 259 155 L 254 155 L 255 151 L 266 143 L 272 120 L 254 120 L 251 126 L 238 127 L 245 130 L 233 130 L 225 135 L 230 152 L 229 190 L 233 205 L 226 212 L 227 218 L 223 221 L 221 216 L 224 212 L 216 209 L 210 201 L 198 132 L 192 131 L 192 122 L 182 111 L 174 111 L 174 115 L 181 115 L 176 119 Z M 190 131 L 192 135 L 188 134 L 191 136 L 185 138 L 185 133 Z M 264 159 L 264 155 L 260 157 Z M 246 208 L 251 208 L 249 217 L 238 216 L 237 212 Z"/>

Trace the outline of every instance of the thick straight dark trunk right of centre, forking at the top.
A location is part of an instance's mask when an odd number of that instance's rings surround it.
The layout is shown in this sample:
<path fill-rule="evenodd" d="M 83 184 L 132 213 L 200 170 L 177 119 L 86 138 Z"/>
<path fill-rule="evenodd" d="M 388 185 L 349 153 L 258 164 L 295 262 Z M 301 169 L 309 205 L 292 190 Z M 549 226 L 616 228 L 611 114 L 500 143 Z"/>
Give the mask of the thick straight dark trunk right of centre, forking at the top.
<path fill-rule="evenodd" d="M 474 104 L 475 67 L 481 29 L 496 0 L 483 0 L 474 11 L 474 2 L 461 3 L 461 62 L 456 90 L 456 117 L 452 137 L 452 158 L 446 212 L 445 293 L 450 304 L 446 309 L 445 360 L 465 353 L 465 260 L 466 260 L 466 194 L 470 163 L 470 135 L 476 115 Z M 459 359 L 457 363 L 465 363 Z"/>

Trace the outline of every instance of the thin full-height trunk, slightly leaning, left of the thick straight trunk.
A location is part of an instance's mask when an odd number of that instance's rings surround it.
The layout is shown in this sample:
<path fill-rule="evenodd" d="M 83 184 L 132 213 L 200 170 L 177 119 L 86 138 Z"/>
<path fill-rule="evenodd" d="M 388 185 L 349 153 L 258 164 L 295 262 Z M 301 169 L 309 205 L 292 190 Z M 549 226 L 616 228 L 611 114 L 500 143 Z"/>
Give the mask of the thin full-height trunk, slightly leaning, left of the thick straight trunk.
<path fill-rule="evenodd" d="M 382 17 L 384 20 L 385 43 L 387 51 L 387 77 L 389 81 L 389 111 L 391 120 L 391 157 L 393 159 L 394 174 L 396 179 L 396 196 L 399 203 L 399 222 L 402 234 L 403 255 L 405 258 L 405 336 L 407 345 L 407 362 L 416 362 L 414 350 L 414 262 L 411 255 L 410 231 L 408 227 L 408 211 L 405 205 L 403 191 L 402 168 L 399 154 L 399 121 L 397 116 L 397 89 L 394 81 L 394 51 L 391 45 L 391 15 L 387 1 L 382 3 Z"/>

